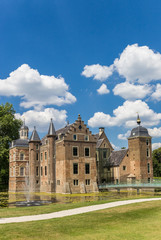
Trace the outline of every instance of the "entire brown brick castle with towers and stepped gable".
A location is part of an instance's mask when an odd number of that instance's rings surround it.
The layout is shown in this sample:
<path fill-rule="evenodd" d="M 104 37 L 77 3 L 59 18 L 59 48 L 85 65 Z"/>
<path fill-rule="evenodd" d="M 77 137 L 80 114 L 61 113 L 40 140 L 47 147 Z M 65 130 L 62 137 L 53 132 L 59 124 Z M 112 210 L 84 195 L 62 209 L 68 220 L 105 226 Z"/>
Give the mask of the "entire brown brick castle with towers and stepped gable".
<path fill-rule="evenodd" d="M 140 123 L 138 116 L 128 149 L 119 151 L 113 151 L 104 128 L 93 135 L 80 115 L 57 131 L 51 119 L 41 140 L 36 128 L 29 139 L 24 123 L 10 146 L 9 191 L 85 193 L 104 183 L 151 182 L 151 137 Z"/>

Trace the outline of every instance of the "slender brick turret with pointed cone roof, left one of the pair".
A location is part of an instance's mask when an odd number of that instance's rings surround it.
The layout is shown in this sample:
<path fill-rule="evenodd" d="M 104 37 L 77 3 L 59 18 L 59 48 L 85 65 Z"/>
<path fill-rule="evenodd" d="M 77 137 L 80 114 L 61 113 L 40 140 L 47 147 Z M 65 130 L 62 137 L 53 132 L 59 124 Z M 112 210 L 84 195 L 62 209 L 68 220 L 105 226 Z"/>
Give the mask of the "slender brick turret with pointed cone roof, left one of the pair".
<path fill-rule="evenodd" d="M 30 192 L 40 191 L 40 138 L 36 131 L 36 127 L 31 134 L 29 140 L 29 179 Z"/>

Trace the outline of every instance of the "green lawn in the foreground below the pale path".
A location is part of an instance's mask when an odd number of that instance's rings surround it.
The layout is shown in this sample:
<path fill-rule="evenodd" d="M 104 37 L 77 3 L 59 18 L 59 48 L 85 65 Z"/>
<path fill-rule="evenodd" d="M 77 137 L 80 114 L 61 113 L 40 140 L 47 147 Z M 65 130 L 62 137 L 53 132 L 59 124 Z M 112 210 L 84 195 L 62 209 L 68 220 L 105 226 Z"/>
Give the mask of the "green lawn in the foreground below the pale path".
<path fill-rule="evenodd" d="M 60 219 L 0 225 L 0 239 L 160 240 L 161 201 Z"/>

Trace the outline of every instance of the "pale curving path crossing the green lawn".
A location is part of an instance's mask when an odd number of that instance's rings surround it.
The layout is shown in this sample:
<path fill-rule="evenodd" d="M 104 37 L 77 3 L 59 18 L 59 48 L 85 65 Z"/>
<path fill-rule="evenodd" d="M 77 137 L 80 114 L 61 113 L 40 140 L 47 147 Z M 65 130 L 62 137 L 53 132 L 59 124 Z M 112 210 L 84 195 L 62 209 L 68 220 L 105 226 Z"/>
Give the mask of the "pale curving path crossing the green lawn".
<path fill-rule="evenodd" d="M 158 201 L 158 200 L 161 200 L 161 198 L 134 199 L 134 200 L 104 203 L 104 204 L 93 205 L 93 206 L 88 206 L 88 207 L 80 207 L 80 208 L 69 209 L 69 210 L 64 210 L 64 211 L 60 211 L 60 212 L 47 213 L 47 214 L 39 214 L 39 215 L 31 215 L 31 216 L 23 216 L 23 217 L 0 218 L 0 224 L 39 221 L 39 220 L 47 220 L 47 219 L 52 219 L 52 218 L 61 218 L 61 217 L 66 217 L 66 216 L 72 216 L 72 215 L 112 208 L 112 207 L 123 206 L 123 205 L 127 205 L 127 204 L 132 204 L 132 203 Z"/>

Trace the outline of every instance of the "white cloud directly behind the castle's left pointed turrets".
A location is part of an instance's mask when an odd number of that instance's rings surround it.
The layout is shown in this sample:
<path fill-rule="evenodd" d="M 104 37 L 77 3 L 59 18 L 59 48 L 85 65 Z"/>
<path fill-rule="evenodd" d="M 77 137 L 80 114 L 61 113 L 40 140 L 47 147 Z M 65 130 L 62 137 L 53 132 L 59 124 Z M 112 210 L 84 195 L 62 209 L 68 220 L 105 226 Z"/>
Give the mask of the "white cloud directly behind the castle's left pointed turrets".
<path fill-rule="evenodd" d="M 65 110 L 59 111 L 54 108 L 46 108 L 42 111 L 29 110 L 23 114 L 16 113 L 15 117 L 22 120 L 25 119 L 25 123 L 30 131 L 36 126 L 39 132 L 47 132 L 51 118 L 53 119 L 55 129 L 64 127 L 66 124 L 67 112 Z"/>

